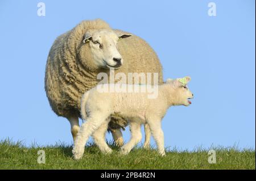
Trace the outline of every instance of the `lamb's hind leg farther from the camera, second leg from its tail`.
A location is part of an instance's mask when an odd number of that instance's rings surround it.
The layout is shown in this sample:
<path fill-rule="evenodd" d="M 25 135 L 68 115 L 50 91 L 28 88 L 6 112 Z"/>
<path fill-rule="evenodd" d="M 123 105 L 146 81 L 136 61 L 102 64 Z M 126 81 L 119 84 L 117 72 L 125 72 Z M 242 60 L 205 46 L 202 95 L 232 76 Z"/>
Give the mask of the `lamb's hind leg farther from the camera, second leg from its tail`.
<path fill-rule="evenodd" d="M 102 153 L 112 153 L 112 149 L 109 148 L 108 144 L 106 144 L 105 141 L 106 131 L 108 129 L 108 122 L 109 120 L 106 123 L 102 124 L 101 127 L 93 133 L 94 141 Z"/>

